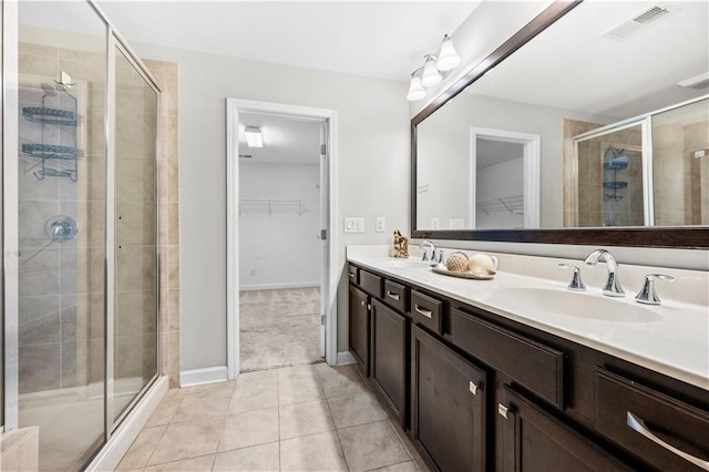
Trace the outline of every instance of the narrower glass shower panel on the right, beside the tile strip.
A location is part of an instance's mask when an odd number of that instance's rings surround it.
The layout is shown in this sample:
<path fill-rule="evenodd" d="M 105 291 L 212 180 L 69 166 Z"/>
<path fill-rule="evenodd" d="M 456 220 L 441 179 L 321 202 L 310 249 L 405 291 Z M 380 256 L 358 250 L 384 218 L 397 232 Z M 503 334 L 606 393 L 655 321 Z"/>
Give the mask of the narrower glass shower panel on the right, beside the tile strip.
<path fill-rule="evenodd" d="M 158 94 L 115 49 L 114 421 L 157 374 Z M 110 407 L 111 408 L 111 407 Z"/>

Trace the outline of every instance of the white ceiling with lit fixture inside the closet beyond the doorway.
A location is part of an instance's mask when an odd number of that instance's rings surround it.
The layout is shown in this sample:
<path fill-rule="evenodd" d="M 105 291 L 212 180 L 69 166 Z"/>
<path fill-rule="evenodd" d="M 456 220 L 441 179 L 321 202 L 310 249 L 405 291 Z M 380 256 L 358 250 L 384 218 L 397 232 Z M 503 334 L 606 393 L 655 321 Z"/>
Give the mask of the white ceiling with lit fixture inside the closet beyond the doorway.
<path fill-rule="evenodd" d="M 239 113 L 240 164 L 320 165 L 320 129 L 322 122 L 286 116 Z M 244 130 L 260 129 L 264 147 L 248 147 Z"/>

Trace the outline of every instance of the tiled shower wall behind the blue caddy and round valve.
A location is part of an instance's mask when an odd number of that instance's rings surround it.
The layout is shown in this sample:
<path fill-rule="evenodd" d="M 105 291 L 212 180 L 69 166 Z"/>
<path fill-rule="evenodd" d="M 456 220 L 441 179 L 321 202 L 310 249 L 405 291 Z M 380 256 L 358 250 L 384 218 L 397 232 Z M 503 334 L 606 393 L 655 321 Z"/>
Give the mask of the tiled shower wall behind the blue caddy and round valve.
<path fill-rule="evenodd" d="M 19 70 L 20 110 L 39 106 L 40 84 L 52 84 L 59 71 L 70 70 L 76 82 L 71 93 L 84 117 L 75 127 L 48 125 L 43 136 L 49 144 L 83 151 L 75 161 L 76 182 L 39 179 L 41 162 L 19 156 L 19 391 L 29 393 L 86 386 L 104 377 L 105 55 L 20 43 Z M 47 104 L 56 106 L 60 96 L 65 107 L 61 92 Z M 20 114 L 20 146 L 41 141 L 42 125 Z M 60 164 L 50 161 L 54 167 Z M 60 214 L 80 223 L 79 234 L 70 242 L 51 243 L 44 225 Z M 82 222 L 91 225 L 82 227 Z"/>

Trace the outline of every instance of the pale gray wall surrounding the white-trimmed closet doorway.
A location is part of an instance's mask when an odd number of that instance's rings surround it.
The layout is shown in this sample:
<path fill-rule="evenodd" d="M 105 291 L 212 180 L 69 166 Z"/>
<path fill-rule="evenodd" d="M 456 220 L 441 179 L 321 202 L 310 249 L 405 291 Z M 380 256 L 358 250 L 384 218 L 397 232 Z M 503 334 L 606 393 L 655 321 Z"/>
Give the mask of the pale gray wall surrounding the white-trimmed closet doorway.
<path fill-rule="evenodd" d="M 133 44 L 145 59 L 178 63 L 181 158 L 182 370 L 226 365 L 226 99 L 338 113 L 339 227 L 345 247 L 389 244 L 407 233 L 409 116 L 407 84 L 217 54 Z M 364 234 L 342 233 L 345 216 L 366 218 Z M 387 232 L 374 233 L 374 218 Z M 347 277 L 339 285 L 338 348 L 347 350 Z"/>

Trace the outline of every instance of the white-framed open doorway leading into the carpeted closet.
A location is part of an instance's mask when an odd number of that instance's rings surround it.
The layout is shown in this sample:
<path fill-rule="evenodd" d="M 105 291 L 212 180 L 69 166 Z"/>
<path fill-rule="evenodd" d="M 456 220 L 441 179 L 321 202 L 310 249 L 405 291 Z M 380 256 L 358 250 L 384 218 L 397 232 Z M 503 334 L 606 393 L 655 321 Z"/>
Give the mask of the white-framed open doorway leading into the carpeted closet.
<path fill-rule="evenodd" d="M 333 126 L 331 111 L 227 100 L 230 379 L 336 363 Z"/>

